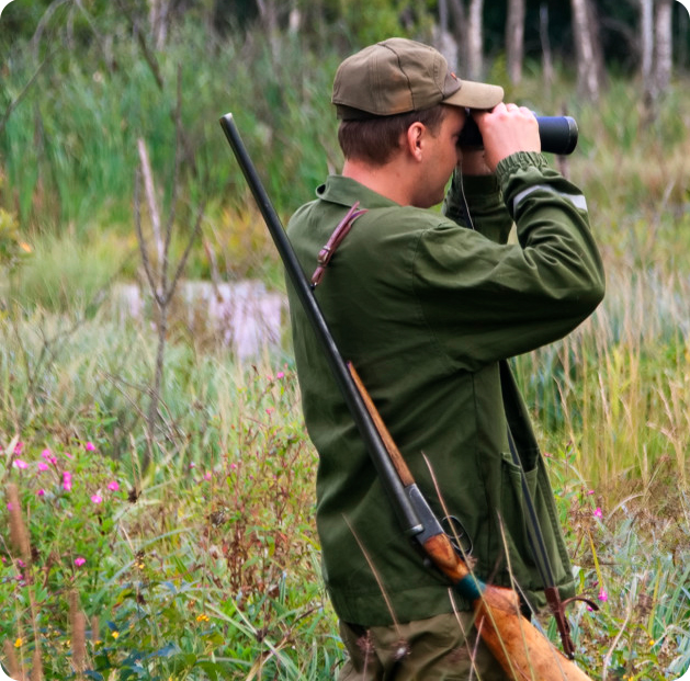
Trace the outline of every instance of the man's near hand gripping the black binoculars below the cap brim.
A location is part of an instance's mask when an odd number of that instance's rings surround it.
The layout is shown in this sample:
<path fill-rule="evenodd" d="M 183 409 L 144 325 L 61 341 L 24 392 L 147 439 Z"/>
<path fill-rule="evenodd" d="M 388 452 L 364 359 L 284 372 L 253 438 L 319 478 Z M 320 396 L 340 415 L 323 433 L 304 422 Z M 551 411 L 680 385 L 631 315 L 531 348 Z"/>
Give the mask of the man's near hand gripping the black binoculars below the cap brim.
<path fill-rule="evenodd" d="M 539 124 L 527 106 L 517 104 L 497 104 L 489 111 L 473 111 L 472 116 L 484 140 L 484 161 L 494 172 L 498 163 L 517 151 L 541 151 Z M 463 172 L 472 174 L 465 168 L 463 154 Z"/>

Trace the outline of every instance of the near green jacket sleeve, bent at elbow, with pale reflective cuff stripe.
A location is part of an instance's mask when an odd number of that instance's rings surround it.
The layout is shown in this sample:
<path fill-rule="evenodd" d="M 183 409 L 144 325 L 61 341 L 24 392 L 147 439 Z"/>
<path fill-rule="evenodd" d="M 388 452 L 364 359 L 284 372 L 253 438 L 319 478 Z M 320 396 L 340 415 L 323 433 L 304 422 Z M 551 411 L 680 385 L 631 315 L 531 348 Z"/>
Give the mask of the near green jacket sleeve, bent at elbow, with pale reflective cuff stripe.
<path fill-rule="evenodd" d="M 416 295 L 454 368 L 476 370 L 553 342 L 603 297 L 603 268 L 581 192 L 541 154 L 504 159 L 496 179 L 518 243 L 491 240 L 502 227 L 490 228 L 487 238 L 450 220 L 417 242 Z"/>

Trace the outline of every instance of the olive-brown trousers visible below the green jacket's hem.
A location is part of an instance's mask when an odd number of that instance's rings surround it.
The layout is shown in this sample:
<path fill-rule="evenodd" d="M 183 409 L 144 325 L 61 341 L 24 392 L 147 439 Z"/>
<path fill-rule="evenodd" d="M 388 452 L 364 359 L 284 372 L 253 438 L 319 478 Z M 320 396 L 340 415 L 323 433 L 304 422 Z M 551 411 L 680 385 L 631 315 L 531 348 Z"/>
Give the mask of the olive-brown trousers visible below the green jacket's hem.
<path fill-rule="evenodd" d="M 472 612 L 367 629 L 341 622 L 349 658 L 338 681 L 510 681 L 473 622 Z"/>

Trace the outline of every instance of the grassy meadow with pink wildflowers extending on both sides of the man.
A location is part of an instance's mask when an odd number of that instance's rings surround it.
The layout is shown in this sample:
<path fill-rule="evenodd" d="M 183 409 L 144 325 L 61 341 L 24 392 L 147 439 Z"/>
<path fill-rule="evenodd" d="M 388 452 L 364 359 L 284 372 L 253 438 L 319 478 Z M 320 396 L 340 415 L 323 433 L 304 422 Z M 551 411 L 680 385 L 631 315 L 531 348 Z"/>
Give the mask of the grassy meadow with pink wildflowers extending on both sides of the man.
<path fill-rule="evenodd" d="M 172 262 L 204 206 L 184 276 L 279 292 L 217 118 L 234 111 L 285 217 L 339 166 L 336 54 L 294 37 L 280 54 L 205 38 L 188 26 L 171 42 L 162 88 L 134 41 L 111 46 L 112 61 L 94 48 L 43 68 L 37 86 L 53 87 L 30 90 L 5 122 L 0 640 L 18 679 L 316 681 L 340 663 L 287 328 L 282 349 L 240 363 L 172 305 L 156 389 L 155 305 L 149 296 L 144 317 L 127 319 L 114 300 L 121 282 L 146 287 L 139 138 Z M 30 46 L 18 49 L 15 95 L 37 68 Z M 487 78 L 505 80 L 500 58 Z M 534 67 L 508 92 L 578 121 L 576 152 L 552 160 L 584 188 L 607 265 L 595 316 L 514 361 L 580 590 L 600 608 L 569 609 L 592 679 L 677 679 L 690 666 L 688 84 L 678 75 L 653 116 L 630 78 L 611 76 L 597 104 L 578 99 L 565 68 L 545 87 Z M 155 261 L 150 204 L 142 220 Z"/>

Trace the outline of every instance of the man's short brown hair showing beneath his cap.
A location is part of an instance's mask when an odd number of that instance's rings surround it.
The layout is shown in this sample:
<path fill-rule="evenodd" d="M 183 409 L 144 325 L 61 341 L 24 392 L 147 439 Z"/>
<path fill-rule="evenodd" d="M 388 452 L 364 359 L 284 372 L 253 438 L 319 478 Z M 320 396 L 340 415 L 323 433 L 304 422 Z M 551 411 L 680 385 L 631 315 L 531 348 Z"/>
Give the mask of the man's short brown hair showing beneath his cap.
<path fill-rule="evenodd" d="M 443 104 L 437 104 L 423 111 L 410 111 L 394 116 L 341 121 L 338 128 L 340 148 L 347 159 L 383 166 L 399 148 L 400 135 L 412 123 L 422 123 L 436 135 L 446 109 Z"/>

